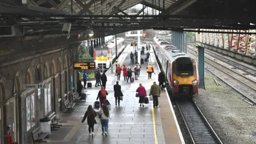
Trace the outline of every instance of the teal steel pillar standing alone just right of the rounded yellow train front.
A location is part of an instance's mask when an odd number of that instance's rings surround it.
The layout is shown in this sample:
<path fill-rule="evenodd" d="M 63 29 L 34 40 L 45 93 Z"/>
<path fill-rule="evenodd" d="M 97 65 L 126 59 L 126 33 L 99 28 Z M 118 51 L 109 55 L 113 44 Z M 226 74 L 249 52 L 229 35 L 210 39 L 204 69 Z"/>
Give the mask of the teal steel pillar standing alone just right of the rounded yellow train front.
<path fill-rule="evenodd" d="M 199 88 L 205 89 L 204 85 L 204 47 L 198 46 L 198 70 Z"/>

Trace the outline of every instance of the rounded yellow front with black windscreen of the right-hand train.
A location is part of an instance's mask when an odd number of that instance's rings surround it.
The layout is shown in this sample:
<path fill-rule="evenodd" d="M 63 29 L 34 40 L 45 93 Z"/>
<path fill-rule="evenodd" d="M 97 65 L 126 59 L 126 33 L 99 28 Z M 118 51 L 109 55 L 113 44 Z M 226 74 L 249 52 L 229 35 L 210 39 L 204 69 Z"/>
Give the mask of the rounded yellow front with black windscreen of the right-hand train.
<path fill-rule="evenodd" d="M 172 88 L 174 97 L 198 95 L 199 75 L 197 63 L 189 57 L 180 57 L 172 63 Z"/>

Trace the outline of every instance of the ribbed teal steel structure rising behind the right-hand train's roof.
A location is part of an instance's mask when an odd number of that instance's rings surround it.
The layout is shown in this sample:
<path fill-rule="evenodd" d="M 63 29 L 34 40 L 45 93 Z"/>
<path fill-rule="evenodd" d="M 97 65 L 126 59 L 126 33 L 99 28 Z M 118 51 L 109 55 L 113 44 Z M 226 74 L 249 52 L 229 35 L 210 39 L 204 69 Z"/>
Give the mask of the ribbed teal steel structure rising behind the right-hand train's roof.
<path fill-rule="evenodd" d="M 181 31 L 172 31 L 172 45 L 187 53 L 187 34 Z"/>

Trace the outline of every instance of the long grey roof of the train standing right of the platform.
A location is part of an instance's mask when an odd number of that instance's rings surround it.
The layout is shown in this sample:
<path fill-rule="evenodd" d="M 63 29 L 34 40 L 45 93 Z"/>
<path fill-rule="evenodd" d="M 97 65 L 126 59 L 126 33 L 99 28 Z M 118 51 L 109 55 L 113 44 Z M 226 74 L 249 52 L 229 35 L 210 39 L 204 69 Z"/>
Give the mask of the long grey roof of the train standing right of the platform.
<path fill-rule="evenodd" d="M 171 45 L 169 42 L 166 43 L 165 39 L 164 41 L 157 41 L 157 37 L 154 37 L 153 40 L 154 43 L 158 45 L 158 49 L 165 53 L 165 57 L 167 57 L 169 60 L 175 60 L 180 57 L 188 57 L 185 52 L 182 52 L 180 49 L 174 45 Z"/>

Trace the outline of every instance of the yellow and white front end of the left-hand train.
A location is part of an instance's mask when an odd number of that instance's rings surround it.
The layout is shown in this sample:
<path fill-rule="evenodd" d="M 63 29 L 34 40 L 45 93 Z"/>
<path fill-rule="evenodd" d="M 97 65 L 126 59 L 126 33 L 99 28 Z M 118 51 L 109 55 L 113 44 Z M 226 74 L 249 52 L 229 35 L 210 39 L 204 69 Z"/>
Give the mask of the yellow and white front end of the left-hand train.
<path fill-rule="evenodd" d="M 102 69 L 108 69 L 110 67 L 110 49 L 108 45 L 102 45 L 95 47 L 94 49 L 94 61 L 95 66 Z"/>

